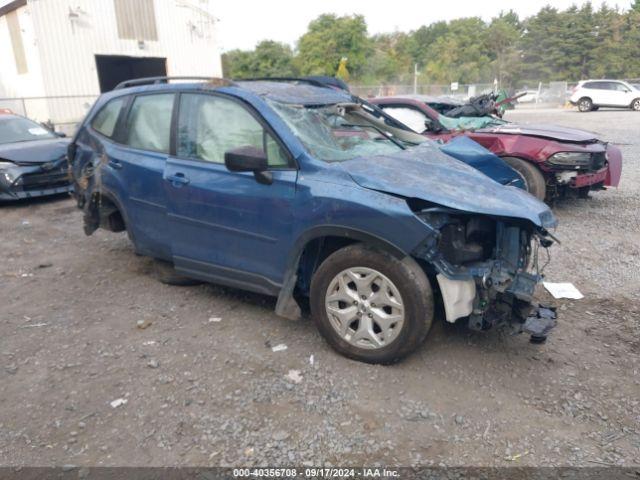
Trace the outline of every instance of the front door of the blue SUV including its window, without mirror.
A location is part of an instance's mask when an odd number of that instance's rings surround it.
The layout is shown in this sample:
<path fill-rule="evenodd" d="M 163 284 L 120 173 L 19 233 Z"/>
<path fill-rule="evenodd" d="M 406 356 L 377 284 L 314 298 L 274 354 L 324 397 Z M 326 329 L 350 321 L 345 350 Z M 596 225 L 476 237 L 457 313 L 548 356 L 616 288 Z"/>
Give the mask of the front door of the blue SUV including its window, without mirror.
<path fill-rule="evenodd" d="M 225 152 L 243 146 L 266 152 L 272 184 L 227 170 Z M 175 151 L 164 178 L 176 269 L 275 294 L 291 244 L 297 178 L 284 145 L 239 100 L 182 93 Z"/>

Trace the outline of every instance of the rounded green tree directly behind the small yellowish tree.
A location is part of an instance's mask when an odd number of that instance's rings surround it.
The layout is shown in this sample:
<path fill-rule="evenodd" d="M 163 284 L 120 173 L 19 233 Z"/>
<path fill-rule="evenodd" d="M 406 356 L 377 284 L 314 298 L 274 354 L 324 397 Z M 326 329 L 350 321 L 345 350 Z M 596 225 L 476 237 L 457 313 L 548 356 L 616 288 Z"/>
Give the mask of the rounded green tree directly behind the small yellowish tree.
<path fill-rule="evenodd" d="M 362 15 L 320 15 L 298 41 L 295 64 L 303 75 L 334 75 L 340 59 L 349 59 L 349 70 L 360 75 L 371 52 L 371 39 Z"/>

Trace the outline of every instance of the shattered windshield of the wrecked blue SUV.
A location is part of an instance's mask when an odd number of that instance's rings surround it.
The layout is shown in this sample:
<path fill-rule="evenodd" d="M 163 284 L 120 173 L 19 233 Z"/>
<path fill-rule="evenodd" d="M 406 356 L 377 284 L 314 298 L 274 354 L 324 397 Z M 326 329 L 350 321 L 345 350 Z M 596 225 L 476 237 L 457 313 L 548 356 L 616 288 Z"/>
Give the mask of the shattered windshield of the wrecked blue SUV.
<path fill-rule="evenodd" d="M 359 105 L 292 105 L 269 102 L 314 157 L 342 162 L 403 150 L 391 134 L 370 122 Z"/>

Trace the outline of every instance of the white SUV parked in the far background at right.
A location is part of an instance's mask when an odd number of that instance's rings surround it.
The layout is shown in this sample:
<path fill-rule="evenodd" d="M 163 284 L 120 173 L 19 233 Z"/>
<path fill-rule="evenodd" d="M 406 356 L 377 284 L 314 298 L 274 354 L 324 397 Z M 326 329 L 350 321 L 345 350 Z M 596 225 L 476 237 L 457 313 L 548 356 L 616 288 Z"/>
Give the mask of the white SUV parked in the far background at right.
<path fill-rule="evenodd" d="M 583 80 L 573 90 L 569 101 L 581 112 L 599 107 L 631 108 L 640 111 L 640 90 L 622 80 Z"/>

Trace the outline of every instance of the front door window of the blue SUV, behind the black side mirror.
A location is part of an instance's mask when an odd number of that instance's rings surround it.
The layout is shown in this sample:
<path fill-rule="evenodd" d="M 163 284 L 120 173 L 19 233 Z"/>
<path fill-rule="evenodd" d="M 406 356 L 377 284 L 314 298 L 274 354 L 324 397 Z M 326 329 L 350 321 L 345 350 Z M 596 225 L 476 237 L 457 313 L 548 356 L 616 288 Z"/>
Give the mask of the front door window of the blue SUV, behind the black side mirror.
<path fill-rule="evenodd" d="M 181 95 L 176 145 L 179 157 L 224 163 L 225 152 L 245 146 L 264 151 L 270 167 L 289 165 L 276 139 L 238 102 L 215 95 Z"/>

